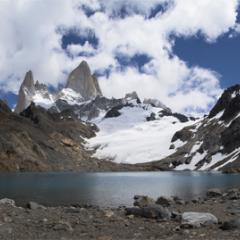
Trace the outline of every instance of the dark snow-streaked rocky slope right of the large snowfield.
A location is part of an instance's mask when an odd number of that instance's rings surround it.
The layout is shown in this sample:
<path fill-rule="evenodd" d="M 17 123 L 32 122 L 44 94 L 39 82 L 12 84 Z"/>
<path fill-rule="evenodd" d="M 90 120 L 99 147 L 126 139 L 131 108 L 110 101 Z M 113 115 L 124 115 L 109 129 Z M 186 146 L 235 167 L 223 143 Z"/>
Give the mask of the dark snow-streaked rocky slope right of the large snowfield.
<path fill-rule="evenodd" d="M 177 131 L 176 151 L 156 167 L 240 172 L 240 85 L 226 89 L 208 116 Z M 182 119 L 184 120 L 184 118 Z"/>

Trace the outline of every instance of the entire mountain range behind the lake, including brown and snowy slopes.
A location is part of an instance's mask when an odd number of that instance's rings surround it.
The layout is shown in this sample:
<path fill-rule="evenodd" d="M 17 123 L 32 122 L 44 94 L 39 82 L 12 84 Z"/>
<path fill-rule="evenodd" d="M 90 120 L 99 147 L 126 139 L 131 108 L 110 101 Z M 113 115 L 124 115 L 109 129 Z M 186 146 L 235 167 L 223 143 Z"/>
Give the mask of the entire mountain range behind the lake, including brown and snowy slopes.
<path fill-rule="evenodd" d="M 0 170 L 240 172 L 240 85 L 196 119 L 136 92 L 103 96 L 83 61 L 59 91 L 27 72 L 12 111 L 0 101 Z"/>

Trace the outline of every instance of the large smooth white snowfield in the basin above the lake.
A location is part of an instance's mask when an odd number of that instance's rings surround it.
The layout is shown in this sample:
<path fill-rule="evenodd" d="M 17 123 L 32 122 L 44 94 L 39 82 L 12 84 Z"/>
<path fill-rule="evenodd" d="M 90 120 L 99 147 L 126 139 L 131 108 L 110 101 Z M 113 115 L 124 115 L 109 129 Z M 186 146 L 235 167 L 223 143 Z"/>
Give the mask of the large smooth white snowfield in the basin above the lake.
<path fill-rule="evenodd" d="M 174 153 L 176 149 L 169 149 L 173 135 L 193 122 L 181 123 L 172 116 L 146 121 L 152 112 L 160 110 L 150 106 L 124 107 L 119 117 L 95 120 L 100 131 L 88 140 L 87 147 L 97 149 L 97 158 L 129 164 L 156 161 Z"/>

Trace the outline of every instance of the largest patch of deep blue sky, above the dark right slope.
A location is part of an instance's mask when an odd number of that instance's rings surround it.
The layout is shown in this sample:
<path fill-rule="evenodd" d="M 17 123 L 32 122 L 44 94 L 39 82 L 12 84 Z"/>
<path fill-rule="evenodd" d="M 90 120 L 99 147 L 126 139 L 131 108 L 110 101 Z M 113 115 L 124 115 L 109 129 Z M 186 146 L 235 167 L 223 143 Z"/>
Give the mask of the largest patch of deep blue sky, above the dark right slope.
<path fill-rule="evenodd" d="M 214 43 L 201 37 L 176 39 L 174 52 L 190 66 L 210 68 L 221 75 L 223 88 L 240 83 L 240 37 L 223 36 Z"/>

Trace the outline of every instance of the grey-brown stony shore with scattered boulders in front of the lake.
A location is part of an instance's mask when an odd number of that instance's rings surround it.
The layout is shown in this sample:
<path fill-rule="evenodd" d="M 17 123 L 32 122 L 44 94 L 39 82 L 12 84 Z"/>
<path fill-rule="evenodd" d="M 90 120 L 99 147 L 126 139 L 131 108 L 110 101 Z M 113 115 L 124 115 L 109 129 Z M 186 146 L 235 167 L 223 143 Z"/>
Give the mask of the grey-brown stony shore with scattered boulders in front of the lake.
<path fill-rule="evenodd" d="M 239 239 L 240 189 L 204 199 L 135 196 L 135 207 L 17 207 L 0 200 L 0 239 Z"/>

